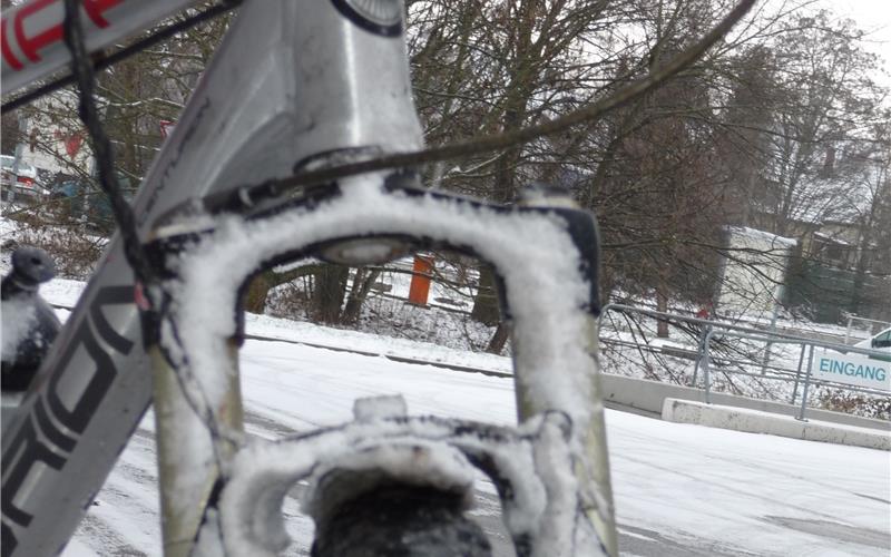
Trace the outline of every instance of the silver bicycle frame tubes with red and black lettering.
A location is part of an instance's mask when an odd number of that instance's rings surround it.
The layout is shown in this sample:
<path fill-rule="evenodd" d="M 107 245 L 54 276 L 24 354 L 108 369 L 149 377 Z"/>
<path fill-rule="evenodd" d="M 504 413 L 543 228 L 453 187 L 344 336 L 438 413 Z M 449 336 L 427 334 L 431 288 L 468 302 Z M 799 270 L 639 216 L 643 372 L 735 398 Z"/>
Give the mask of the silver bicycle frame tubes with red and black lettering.
<path fill-rule="evenodd" d="M 16 42 L 4 33 L 4 94 L 66 63 L 60 3 L 33 0 L 3 16 L 3 30 L 10 21 L 17 30 Z M 85 12 L 101 28 L 89 33 L 88 45 L 108 45 L 188 3 L 87 1 Z M 159 217 L 190 199 L 290 176 L 332 157 L 420 148 L 402 6 L 392 4 L 395 19 L 363 13 L 350 0 L 244 2 L 140 186 L 134 207 L 143 238 L 149 240 Z M 22 40 L 38 21 L 35 39 Z M 35 45 L 37 38 L 43 46 Z M 16 71 L 19 77 L 8 77 Z M 3 424 L 3 556 L 51 555 L 65 547 L 151 402 L 147 331 L 135 295 L 116 236 L 30 391 Z M 587 339 L 596 342 L 590 333 Z M 541 410 L 520 385 L 518 397 L 521 418 Z M 603 409 L 593 404 L 586 439 L 605 447 Z M 599 519 L 606 526 L 597 529 L 607 532 L 615 554 L 606 456 L 590 465 L 595 473 L 585 481 L 607 487 Z"/>

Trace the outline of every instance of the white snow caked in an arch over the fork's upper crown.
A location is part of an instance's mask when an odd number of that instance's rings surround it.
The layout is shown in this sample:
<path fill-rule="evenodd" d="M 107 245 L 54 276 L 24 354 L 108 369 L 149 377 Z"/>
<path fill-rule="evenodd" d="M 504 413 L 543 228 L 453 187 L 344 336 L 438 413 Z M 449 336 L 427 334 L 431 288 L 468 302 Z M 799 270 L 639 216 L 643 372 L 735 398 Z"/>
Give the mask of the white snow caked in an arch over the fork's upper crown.
<path fill-rule="evenodd" d="M 520 381 L 538 408 L 568 411 L 578 423 L 590 420 L 593 362 L 578 339 L 585 338 L 587 284 L 578 277 L 578 258 L 562 223 L 547 216 L 487 213 L 432 198 L 383 195 L 380 178 L 356 178 L 344 195 L 312 211 L 297 211 L 261 222 L 223 218 L 213 242 L 203 243 L 182 263 L 176 289 L 182 323 L 203 323 L 179 331 L 192 370 L 209 404 L 223 398 L 233 370 L 223 356 L 235 332 L 231 309 L 244 277 L 261 262 L 288 248 L 372 231 L 411 231 L 453 245 L 478 246 L 481 255 L 506 272 L 508 296 L 517 317 Z M 454 223 L 461 222 L 460 227 Z M 519 266 L 517 262 L 526 265 Z M 559 295 L 555 295 L 559 293 Z M 547 332 L 548 334 L 542 334 Z M 549 370 L 564 373 L 547 373 Z M 594 409 L 597 411 L 599 409 Z"/>

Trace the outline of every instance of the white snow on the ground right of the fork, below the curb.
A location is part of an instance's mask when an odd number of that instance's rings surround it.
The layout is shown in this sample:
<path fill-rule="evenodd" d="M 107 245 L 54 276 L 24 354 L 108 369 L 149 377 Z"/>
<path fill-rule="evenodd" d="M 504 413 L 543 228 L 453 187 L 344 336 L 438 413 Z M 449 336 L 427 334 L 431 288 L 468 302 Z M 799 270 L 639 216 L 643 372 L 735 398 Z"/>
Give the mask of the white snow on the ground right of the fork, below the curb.
<path fill-rule="evenodd" d="M 620 524 L 635 517 L 636 526 L 660 531 L 666 520 L 654 509 L 667 508 L 675 531 L 756 555 L 887 555 L 887 549 L 791 532 L 770 520 L 828 520 L 888 532 L 888 502 L 861 499 L 888 496 L 887 452 L 653 422 L 646 446 L 637 443 L 629 453 L 621 446 L 628 437 L 639 440 L 640 431 L 615 418 L 607 417 L 614 471 L 637 478 L 617 478 Z M 678 440 L 696 450 L 669 450 Z"/>

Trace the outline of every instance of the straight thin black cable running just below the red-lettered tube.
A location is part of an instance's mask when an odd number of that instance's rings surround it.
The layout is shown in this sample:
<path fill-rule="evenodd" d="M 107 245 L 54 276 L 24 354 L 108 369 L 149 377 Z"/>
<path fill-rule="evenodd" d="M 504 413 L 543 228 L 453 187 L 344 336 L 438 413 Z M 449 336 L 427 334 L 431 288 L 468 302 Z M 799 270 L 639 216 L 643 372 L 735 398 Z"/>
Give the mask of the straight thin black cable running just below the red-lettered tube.
<path fill-rule="evenodd" d="M 221 3 L 206 9 L 205 11 L 193 16 L 188 19 L 184 19 L 183 21 L 178 21 L 176 23 L 172 23 L 159 31 L 140 39 L 133 45 L 121 48 L 120 50 L 116 50 L 115 52 L 98 58 L 92 61 L 92 69 L 94 71 L 106 69 L 110 66 L 116 65 L 121 60 L 126 60 L 127 58 L 138 53 L 141 50 L 145 50 L 149 47 L 154 47 L 158 42 L 165 41 L 170 37 L 175 36 L 176 33 L 184 31 L 186 29 L 190 29 L 198 23 L 213 19 L 217 16 L 221 16 L 233 8 L 241 4 L 244 0 L 223 0 Z M 37 87 L 36 89 L 31 89 L 30 91 L 16 97 L 8 102 L 4 102 L 3 106 L 0 108 L 0 114 L 10 113 L 21 106 L 28 105 L 29 102 L 33 102 L 35 100 L 43 97 L 45 95 L 49 95 L 50 92 L 61 89 L 62 87 L 69 86 L 77 81 L 77 76 L 74 74 L 69 74 L 67 76 L 62 76 L 58 79 L 55 79 L 46 85 Z"/>

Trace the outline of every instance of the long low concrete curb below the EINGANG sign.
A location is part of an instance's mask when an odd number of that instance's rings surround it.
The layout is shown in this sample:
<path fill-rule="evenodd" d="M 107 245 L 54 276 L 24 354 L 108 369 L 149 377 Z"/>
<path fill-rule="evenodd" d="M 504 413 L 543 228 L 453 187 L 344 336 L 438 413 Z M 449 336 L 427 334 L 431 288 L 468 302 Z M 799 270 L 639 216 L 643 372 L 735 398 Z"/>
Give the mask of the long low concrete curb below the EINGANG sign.
<path fill-rule="evenodd" d="M 767 433 L 792 439 L 891 451 L 891 433 L 888 431 L 815 420 L 800 421 L 789 416 L 689 400 L 665 399 L 662 419 L 676 423 L 693 423 L 748 433 Z"/>

